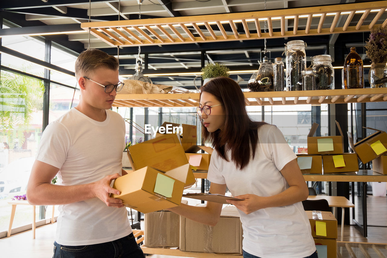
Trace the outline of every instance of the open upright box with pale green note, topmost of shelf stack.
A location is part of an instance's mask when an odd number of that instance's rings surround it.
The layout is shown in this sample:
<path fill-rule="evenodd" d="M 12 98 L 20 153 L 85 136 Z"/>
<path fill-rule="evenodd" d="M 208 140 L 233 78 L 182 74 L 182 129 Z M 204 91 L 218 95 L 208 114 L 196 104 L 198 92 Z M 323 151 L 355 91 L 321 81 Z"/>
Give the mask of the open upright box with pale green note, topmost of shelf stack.
<path fill-rule="evenodd" d="M 308 154 L 341 154 L 344 152 L 344 138 L 339 123 L 336 121 L 340 136 L 314 136 L 319 124 L 313 123 L 310 128 L 307 144 Z"/>

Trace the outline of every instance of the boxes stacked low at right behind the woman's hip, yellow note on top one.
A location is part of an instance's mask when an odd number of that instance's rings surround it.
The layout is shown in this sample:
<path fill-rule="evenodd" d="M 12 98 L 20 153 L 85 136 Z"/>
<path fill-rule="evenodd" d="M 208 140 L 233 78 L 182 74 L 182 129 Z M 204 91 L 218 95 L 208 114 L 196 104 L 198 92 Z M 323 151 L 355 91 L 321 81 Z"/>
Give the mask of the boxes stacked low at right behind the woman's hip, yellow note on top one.
<path fill-rule="evenodd" d="M 319 258 L 336 257 L 337 220 L 331 212 L 307 211 Z"/>

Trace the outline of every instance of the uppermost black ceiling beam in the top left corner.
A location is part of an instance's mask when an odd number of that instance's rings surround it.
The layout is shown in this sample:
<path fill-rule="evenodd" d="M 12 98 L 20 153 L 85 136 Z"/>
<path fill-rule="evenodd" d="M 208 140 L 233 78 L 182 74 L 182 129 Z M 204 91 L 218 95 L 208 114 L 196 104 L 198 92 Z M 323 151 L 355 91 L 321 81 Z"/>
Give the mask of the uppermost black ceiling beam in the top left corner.
<path fill-rule="evenodd" d="M 117 0 L 91 0 L 92 3 L 117 2 Z M 29 8 L 53 7 L 53 6 L 69 6 L 89 4 L 87 0 L 50 0 L 43 2 L 42 0 L 0 0 L 0 6 L 3 10 L 19 10 Z"/>

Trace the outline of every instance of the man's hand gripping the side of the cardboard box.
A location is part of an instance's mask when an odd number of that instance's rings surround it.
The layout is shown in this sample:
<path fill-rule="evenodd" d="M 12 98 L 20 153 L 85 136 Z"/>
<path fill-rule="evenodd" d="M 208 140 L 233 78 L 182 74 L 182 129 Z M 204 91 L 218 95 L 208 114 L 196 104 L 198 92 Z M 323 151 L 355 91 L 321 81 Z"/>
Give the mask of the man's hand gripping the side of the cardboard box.
<path fill-rule="evenodd" d="M 96 181 L 91 184 L 91 191 L 95 197 L 98 197 L 99 200 L 103 201 L 109 207 L 121 208 L 124 205 L 122 200 L 111 198 L 110 193 L 120 194 L 120 191 L 110 187 L 111 181 L 120 177 L 121 175 L 116 173 L 113 175 L 107 175 L 103 179 Z"/>

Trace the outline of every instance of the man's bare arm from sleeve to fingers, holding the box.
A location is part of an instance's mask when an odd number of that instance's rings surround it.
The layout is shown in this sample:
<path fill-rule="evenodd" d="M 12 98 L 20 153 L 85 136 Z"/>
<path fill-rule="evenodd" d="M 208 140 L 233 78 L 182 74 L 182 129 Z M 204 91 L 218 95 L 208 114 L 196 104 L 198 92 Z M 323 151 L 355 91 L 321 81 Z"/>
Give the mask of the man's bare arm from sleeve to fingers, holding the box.
<path fill-rule="evenodd" d="M 51 180 L 58 173 L 57 167 L 35 160 L 27 185 L 27 200 L 32 205 L 62 205 L 98 197 L 107 206 L 121 208 L 122 200 L 111 198 L 110 193 L 120 191 L 110 187 L 111 181 L 120 177 L 116 173 L 89 184 L 58 186 Z"/>

